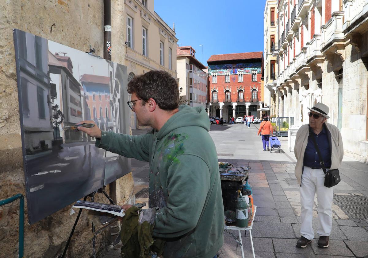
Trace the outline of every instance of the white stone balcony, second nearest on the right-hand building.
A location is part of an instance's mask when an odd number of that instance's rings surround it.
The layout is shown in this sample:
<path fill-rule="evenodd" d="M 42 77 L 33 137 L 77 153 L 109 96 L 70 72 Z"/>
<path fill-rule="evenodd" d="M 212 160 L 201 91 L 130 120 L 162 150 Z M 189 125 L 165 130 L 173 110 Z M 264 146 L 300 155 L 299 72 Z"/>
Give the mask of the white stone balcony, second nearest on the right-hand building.
<path fill-rule="evenodd" d="M 322 52 L 325 52 L 334 42 L 343 42 L 344 12 L 334 12 L 331 19 L 321 27 Z M 342 43 L 343 44 L 343 43 Z"/>

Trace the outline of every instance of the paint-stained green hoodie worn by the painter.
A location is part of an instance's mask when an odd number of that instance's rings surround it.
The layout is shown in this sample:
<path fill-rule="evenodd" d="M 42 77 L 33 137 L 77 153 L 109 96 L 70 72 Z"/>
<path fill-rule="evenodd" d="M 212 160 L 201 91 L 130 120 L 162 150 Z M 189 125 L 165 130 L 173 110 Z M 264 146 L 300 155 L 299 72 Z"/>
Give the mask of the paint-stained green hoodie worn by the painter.
<path fill-rule="evenodd" d="M 96 146 L 149 161 L 153 236 L 166 241 L 164 258 L 212 258 L 223 245 L 222 203 L 216 147 L 203 107 L 180 105 L 157 131 L 131 136 L 102 132 Z"/>

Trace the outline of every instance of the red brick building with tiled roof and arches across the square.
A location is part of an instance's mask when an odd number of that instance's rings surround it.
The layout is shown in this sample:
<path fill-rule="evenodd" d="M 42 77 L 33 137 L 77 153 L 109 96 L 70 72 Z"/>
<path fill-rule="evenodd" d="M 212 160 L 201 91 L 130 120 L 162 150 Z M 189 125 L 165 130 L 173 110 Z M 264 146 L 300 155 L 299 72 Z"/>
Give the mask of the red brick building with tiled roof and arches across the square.
<path fill-rule="evenodd" d="M 209 74 L 209 115 L 223 117 L 254 115 L 262 107 L 263 52 L 212 55 Z"/>

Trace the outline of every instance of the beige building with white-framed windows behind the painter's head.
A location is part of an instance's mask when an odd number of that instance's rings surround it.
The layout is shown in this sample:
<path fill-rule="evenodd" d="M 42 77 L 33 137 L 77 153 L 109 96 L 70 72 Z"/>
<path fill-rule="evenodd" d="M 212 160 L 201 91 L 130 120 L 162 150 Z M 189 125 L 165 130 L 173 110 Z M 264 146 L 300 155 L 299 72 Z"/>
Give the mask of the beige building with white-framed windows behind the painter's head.
<path fill-rule="evenodd" d="M 155 12 L 153 0 L 126 0 L 125 3 L 125 65 L 128 81 L 135 75 L 151 70 L 164 70 L 176 77 L 176 38 L 170 28 Z M 131 112 L 130 125 L 138 128 L 135 113 Z"/>

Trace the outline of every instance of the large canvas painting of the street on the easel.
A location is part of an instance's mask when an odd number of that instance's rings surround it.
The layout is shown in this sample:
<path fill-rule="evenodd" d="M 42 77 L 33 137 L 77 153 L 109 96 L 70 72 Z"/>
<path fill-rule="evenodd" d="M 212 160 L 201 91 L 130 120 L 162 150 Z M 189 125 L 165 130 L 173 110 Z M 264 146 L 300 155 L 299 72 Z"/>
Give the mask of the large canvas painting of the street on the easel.
<path fill-rule="evenodd" d="M 129 133 L 127 68 L 18 29 L 14 44 L 32 224 L 131 171 L 128 158 L 62 130 L 93 120 L 102 130 Z"/>

